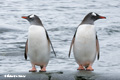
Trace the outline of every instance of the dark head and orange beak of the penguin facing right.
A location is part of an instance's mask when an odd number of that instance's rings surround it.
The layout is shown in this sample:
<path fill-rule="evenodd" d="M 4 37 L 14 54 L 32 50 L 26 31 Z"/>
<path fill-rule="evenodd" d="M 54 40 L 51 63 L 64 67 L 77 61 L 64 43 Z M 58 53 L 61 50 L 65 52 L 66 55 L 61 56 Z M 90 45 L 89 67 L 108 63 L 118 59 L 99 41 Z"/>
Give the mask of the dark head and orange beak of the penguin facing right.
<path fill-rule="evenodd" d="M 90 12 L 85 16 L 81 24 L 94 24 L 94 21 L 98 19 L 106 19 L 106 17 L 100 16 L 94 12 Z"/>

